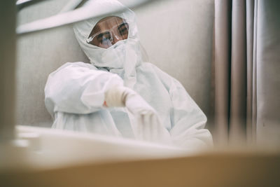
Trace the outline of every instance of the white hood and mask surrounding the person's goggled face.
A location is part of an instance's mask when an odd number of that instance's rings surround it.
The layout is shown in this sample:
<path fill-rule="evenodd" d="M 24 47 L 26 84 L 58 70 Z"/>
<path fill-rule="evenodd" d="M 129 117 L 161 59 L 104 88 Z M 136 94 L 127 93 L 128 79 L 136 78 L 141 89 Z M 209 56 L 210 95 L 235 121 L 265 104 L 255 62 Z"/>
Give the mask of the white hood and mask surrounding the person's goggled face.
<path fill-rule="evenodd" d="M 130 69 L 133 69 L 142 61 L 138 29 L 135 23 L 134 12 L 116 0 L 90 0 L 83 4 L 83 6 L 90 8 L 90 11 L 110 11 L 116 10 L 116 8 L 123 9 L 123 11 L 119 13 L 111 13 L 99 18 L 91 18 L 89 20 L 78 22 L 73 25 L 73 30 L 78 43 L 80 43 L 80 47 L 83 49 L 85 55 L 87 55 L 87 57 L 90 59 L 90 62 L 95 67 L 119 69 L 117 71 L 121 71 L 120 69 L 131 71 Z M 99 48 L 87 43 L 86 39 L 92 31 L 92 28 L 97 24 L 97 22 L 99 22 L 99 20 L 109 16 L 117 16 L 129 22 L 130 29 L 128 38 L 123 41 L 118 41 L 118 43 L 107 49 Z M 118 74 L 121 73 L 124 72 L 119 72 Z"/>

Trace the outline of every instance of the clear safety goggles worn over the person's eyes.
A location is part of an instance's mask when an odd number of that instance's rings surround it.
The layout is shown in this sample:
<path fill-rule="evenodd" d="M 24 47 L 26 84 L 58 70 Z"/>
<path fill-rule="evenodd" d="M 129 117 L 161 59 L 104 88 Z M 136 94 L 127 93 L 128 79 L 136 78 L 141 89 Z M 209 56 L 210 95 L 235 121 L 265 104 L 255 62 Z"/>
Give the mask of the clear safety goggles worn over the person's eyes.
<path fill-rule="evenodd" d="M 127 39 L 129 29 L 129 22 L 125 21 L 119 25 L 113 26 L 111 29 L 106 29 L 102 32 L 93 34 L 86 39 L 86 42 L 100 48 L 109 48 L 118 41 Z"/>

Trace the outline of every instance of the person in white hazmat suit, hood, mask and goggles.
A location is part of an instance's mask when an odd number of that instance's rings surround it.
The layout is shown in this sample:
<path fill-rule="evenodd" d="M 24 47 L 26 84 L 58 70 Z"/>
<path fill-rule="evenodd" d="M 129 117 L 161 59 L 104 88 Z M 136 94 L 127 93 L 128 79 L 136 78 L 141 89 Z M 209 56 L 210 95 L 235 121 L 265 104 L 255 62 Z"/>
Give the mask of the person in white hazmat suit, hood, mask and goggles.
<path fill-rule="evenodd" d="M 83 6 L 124 11 L 73 25 L 91 64 L 68 62 L 48 77 L 52 127 L 186 148 L 211 145 L 207 118 L 181 83 L 145 62 L 134 13 L 116 0 Z"/>

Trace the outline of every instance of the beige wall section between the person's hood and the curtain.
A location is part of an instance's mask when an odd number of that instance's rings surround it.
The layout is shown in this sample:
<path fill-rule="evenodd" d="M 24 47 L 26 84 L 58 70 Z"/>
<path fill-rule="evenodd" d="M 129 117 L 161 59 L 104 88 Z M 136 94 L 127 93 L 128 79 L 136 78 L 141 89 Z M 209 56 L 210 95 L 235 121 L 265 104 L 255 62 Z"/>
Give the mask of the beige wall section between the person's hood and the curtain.
<path fill-rule="evenodd" d="M 155 2 L 136 11 L 150 60 L 209 113 L 214 0 Z"/>

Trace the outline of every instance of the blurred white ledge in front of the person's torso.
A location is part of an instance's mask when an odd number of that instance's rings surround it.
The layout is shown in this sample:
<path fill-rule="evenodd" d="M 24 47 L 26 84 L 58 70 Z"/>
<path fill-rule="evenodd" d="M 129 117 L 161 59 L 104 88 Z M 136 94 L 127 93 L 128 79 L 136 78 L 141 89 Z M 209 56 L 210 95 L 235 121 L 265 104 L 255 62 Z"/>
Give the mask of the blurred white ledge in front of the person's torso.
<path fill-rule="evenodd" d="M 188 155 L 180 149 L 92 133 L 16 126 L 18 139 L 0 144 L 1 169 L 50 169 L 83 163 L 119 162 Z"/>

